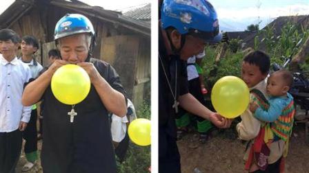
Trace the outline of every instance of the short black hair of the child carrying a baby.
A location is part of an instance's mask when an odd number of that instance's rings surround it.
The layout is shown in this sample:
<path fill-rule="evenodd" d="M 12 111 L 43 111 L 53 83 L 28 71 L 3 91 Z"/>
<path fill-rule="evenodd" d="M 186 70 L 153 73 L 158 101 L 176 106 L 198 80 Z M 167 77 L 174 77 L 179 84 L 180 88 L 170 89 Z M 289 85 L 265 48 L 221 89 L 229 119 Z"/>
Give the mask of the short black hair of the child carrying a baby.
<path fill-rule="evenodd" d="M 262 74 L 267 74 L 270 69 L 270 58 L 268 54 L 263 51 L 250 51 L 243 62 L 248 62 L 250 65 L 256 65 Z"/>

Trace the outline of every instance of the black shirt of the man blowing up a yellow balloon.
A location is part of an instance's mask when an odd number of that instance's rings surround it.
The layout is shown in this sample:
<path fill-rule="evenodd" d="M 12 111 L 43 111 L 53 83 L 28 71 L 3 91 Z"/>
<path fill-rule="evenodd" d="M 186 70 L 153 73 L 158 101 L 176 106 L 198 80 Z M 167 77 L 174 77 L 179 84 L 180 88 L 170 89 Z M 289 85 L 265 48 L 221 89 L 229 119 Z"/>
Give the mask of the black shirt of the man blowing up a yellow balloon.
<path fill-rule="evenodd" d="M 117 72 L 106 62 L 90 59 L 110 86 L 123 93 Z M 79 94 L 79 93 L 77 93 Z M 44 172 L 116 172 L 108 111 L 91 85 L 85 100 L 76 104 L 74 122 L 50 86 L 43 94 L 43 146 L 41 164 Z"/>

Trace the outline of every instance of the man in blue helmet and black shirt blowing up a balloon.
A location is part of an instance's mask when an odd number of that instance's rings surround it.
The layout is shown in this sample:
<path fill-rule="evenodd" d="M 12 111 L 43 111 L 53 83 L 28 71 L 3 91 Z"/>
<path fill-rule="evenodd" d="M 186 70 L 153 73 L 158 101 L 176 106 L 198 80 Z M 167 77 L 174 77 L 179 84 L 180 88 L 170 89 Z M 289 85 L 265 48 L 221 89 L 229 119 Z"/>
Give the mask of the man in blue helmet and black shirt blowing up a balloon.
<path fill-rule="evenodd" d="M 61 60 L 52 65 L 23 93 L 23 105 L 43 100 L 43 172 L 111 172 L 117 171 L 108 113 L 126 115 L 126 93 L 119 76 L 107 62 L 92 58 L 94 29 L 81 14 L 67 14 L 54 30 L 54 40 Z M 79 65 L 90 77 L 88 96 L 75 105 L 59 102 L 50 88 L 54 71 L 67 64 Z M 78 94 L 78 93 L 77 93 Z M 68 113 L 77 113 L 70 121 Z"/>

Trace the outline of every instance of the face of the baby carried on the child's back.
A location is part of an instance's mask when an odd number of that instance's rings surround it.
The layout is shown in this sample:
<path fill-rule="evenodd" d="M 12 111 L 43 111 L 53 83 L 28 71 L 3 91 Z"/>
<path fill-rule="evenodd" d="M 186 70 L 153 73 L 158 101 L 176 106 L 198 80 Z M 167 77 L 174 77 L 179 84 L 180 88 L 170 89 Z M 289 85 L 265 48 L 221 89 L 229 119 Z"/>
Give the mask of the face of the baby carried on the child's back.
<path fill-rule="evenodd" d="M 268 93 L 268 95 L 285 95 L 289 89 L 290 87 L 286 85 L 279 73 L 272 74 L 267 80 L 266 92 Z"/>

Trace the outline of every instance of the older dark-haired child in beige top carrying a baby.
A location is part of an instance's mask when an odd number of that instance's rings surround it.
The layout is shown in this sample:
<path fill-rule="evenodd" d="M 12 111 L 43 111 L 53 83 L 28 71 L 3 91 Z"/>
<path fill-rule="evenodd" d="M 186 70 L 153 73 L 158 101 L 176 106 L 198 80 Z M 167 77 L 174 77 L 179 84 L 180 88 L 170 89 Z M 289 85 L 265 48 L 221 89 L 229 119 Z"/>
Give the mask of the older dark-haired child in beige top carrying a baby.
<path fill-rule="evenodd" d="M 266 94 L 266 77 L 270 68 L 270 58 L 262 51 L 251 51 L 245 56 L 241 65 L 241 78 L 250 88 L 250 102 L 259 100 L 259 106 L 264 106 L 267 102 Z M 264 104 L 263 104 L 264 103 Z M 237 132 L 240 139 L 250 141 L 248 150 L 246 151 L 244 160 L 246 161 L 245 169 L 249 172 L 279 172 L 279 166 L 281 163 L 281 157 L 283 155 L 283 149 L 285 142 L 281 139 L 274 140 L 265 145 L 257 147 L 263 139 L 260 138 L 261 134 L 265 134 L 265 125 L 262 124 L 259 119 L 256 119 L 252 115 L 249 108 L 241 115 L 241 122 L 237 124 Z M 259 139 L 259 140 L 258 140 Z M 269 156 L 267 161 L 264 160 L 263 168 L 252 167 L 253 157 L 261 156 L 259 150 L 256 148 L 263 148 L 268 150 Z M 255 154 L 255 155 L 254 155 Z M 258 158 L 257 158 L 258 159 Z M 267 163 L 268 162 L 268 163 Z M 269 165 L 268 165 L 269 164 Z"/>

